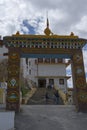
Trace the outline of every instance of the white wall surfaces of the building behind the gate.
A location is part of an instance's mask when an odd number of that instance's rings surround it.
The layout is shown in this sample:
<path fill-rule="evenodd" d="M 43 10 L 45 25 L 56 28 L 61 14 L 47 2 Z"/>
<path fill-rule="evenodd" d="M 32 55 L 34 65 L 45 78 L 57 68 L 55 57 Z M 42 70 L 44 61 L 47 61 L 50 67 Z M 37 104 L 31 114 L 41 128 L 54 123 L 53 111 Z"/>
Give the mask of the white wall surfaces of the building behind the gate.
<path fill-rule="evenodd" d="M 30 64 L 29 64 L 30 62 Z M 29 74 L 29 70 L 31 70 L 31 74 Z M 35 58 L 29 58 L 28 59 L 28 69 L 27 69 L 27 77 L 36 82 L 38 86 L 38 76 L 52 76 L 54 79 L 54 84 L 58 85 L 62 90 L 66 91 L 67 87 L 67 79 L 64 79 L 64 85 L 59 84 L 59 79 L 55 76 L 66 76 L 66 65 L 65 64 L 35 64 Z M 49 78 L 46 78 L 46 85 L 49 82 Z"/>

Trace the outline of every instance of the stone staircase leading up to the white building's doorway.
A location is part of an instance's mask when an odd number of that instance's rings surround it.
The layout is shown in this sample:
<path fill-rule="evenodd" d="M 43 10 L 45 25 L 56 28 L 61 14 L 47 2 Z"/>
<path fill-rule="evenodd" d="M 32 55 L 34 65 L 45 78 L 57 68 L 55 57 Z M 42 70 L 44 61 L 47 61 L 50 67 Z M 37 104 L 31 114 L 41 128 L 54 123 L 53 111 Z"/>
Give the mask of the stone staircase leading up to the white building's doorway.
<path fill-rule="evenodd" d="M 46 98 L 46 93 L 48 98 Z M 53 89 L 47 88 L 37 88 L 36 92 L 32 95 L 32 97 L 27 102 L 28 105 L 57 105 L 63 104 L 61 98 L 59 98 L 58 103 L 56 102 L 56 98 L 53 93 Z"/>

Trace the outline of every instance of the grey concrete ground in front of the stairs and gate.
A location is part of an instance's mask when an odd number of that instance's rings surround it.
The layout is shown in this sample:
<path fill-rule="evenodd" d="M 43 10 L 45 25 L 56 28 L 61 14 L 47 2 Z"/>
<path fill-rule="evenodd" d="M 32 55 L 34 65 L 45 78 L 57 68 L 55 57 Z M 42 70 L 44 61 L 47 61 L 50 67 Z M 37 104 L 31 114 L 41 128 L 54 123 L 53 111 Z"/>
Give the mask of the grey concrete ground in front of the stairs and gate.
<path fill-rule="evenodd" d="M 77 113 L 74 106 L 22 105 L 15 130 L 87 130 L 87 113 Z"/>

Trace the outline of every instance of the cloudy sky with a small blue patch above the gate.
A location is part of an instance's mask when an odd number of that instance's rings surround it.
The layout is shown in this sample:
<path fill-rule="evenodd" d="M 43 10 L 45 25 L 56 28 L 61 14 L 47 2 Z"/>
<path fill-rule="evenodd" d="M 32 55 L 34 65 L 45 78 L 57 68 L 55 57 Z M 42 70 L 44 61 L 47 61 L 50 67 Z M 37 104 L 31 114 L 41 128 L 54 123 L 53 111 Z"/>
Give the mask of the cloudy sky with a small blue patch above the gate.
<path fill-rule="evenodd" d="M 0 35 L 43 34 L 47 14 L 54 34 L 87 39 L 87 0 L 0 0 Z M 87 75 L 87 46 L 83 56 Z"/>

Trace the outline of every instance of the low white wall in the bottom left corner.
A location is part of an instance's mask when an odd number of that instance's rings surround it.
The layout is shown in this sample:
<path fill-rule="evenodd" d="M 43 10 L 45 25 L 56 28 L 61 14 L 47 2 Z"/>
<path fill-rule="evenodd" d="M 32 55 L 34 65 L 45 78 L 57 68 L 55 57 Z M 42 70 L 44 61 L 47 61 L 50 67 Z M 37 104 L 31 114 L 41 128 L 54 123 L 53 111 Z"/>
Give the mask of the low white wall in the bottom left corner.
<path fill-rule="evenodd" d="M 0 112 L 0 130 L 14 130 L 15 112 Z"/>

